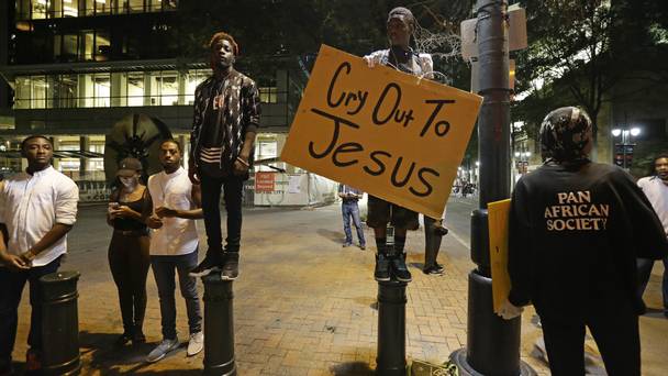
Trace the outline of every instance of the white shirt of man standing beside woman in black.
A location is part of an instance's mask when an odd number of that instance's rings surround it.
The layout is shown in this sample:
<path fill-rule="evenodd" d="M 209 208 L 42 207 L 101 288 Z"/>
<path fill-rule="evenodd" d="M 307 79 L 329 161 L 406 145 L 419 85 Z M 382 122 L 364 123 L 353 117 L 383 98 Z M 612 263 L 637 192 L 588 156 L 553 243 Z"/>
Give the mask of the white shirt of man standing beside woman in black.
<path fill-rule="evenodd" d="M 148 192 L 154 212 L 159 207 L 179 210 L 193 208 L 192 183 L 182 167 L 172 174 L 162 172 L 152 175 L 148 178 Z M 151 255 L 178 256 L 194 252 L 199 243 L 194 222 L 176 217 L 163 218 L 163 226 L 153 230 L 151 235 Z"/>

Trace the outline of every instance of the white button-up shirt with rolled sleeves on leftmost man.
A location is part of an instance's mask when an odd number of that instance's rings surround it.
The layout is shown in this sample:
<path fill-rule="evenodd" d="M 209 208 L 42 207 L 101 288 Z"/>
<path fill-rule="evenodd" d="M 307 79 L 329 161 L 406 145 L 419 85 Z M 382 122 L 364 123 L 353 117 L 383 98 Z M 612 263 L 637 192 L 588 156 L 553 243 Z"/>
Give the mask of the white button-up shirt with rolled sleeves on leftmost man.
<path fill-rule="evenodd" d="M 0 185 L 0 223 L 9 233 L 7 251 L 20 255 L 56 223 L 75 224 L 79 188 L 52 166 L 30 175 L 19 173 Z M 44 266 L 67 252 L 67 235 L 42 251 L 33 266 Z"/>

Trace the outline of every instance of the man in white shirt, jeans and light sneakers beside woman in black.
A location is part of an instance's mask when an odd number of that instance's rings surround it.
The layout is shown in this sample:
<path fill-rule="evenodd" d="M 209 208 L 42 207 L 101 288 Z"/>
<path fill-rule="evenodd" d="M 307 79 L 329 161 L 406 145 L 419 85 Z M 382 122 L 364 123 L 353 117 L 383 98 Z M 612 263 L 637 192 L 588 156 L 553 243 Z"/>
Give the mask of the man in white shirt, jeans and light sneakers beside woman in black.
<path fill-rule="evenodd" d="M 199 239 L 196 219 L 203 218 L 201 191 L 181 167 L 181 145 L 167 140 L 160 145 L 160 164 L 164 170 L 148 178 L 146 224 L 153 229 L 151 237 L 151 266 L 160 297 L 163 341 L 146 357 L 157 362 L 178 349 L 176 333 L 176 302 L 174 300 L 175 270 L 179 274 L 181 296 L 186 299 L 190 340 L 188 356 L 202 351 L 202 313 L 197 292 L 197 280 L 189 273 L 197 266 Z"/>

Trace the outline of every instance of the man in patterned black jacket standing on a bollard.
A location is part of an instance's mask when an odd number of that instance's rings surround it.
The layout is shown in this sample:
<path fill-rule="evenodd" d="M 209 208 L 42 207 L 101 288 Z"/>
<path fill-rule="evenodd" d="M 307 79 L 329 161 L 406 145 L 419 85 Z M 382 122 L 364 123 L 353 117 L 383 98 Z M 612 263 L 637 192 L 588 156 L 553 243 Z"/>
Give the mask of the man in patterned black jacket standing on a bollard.
<path fill-rule="evenodd" d="M 194 91 L 188 170 L 190 180 L 202 186 L 209 248 L 190 275 L 204 276 L 212 270 L 222 270 L 223 279 L 235 279 L 242 236 L 242 191 L 253 165 L 253 147 L 259 126 L 259 95 L 255 82 L 233 68 L 238 46 L 231 35 L 214 34 L 209 47 L 213 76 Z M 221 188 L 227 211 L 224 252 Z"/>

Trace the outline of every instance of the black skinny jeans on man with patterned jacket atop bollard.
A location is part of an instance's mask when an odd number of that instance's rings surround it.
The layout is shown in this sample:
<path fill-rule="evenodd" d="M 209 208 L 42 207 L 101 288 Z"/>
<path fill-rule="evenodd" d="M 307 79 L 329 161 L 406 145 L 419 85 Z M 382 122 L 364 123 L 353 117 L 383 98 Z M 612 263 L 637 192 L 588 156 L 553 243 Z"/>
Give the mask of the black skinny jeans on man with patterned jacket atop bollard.
<path fill-rule="evenodd" d="M 227 237 L 225 251 L 238 252 L 242 240 L 242 193 L 244 179 L 242 176 L 230 175 L 225 177 L 211 177 L 201 174 L 202 210 L 204 211 L 204 226 L 207 228 L 207 245 L 210 251 L 222 252 L 223 234 L 221 232 L 221 188 L 225 199 L 227 212 Z"/>

